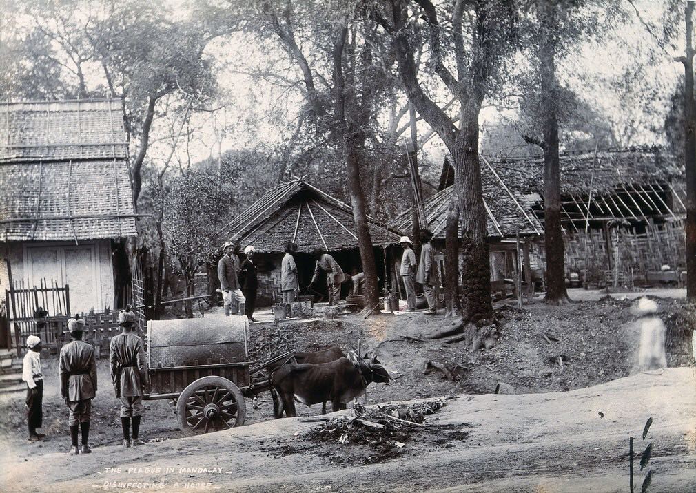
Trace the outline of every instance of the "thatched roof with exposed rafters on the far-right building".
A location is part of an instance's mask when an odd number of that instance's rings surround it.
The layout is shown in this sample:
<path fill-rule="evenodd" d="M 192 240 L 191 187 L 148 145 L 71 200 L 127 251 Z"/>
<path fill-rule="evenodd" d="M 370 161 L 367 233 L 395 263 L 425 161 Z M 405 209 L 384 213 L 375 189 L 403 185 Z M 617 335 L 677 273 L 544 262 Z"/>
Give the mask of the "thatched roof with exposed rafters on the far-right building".
<path fill-rule="evenodd" d="M 491 165 L 525 195 L 543 223 L 544 159 L 507 159 Z M 674 220 L 686 213 L 683 163 L 658 147 L 565 154 L 560 166 L 561 216 L 569 232 L 583 229 L 585 220 L 639 224 Z"/>

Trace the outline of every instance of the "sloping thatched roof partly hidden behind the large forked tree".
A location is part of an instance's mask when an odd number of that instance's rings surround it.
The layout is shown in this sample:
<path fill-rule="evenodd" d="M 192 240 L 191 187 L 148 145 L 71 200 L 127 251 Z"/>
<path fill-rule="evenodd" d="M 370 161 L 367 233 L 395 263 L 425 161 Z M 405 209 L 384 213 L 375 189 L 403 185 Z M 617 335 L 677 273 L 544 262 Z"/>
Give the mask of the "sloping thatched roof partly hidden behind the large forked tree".
<path fill-rule="evenodd" d="M 481 179 L 489 237 L 511 238 L 518 232 L 523 236 L 544 233 L 544 227 L 530 209 L 525 197 L 519 191 L 509 188 L 503 177 L 485 158 L 481 159 Z M 449 186 L 425 200 L 428 229 L 436 239 L 445 238 L 447 216 L 453 197 L 454 186 Z M 395 223 L 397 229 L 409 231 L 411 210 L 400 214 Z"/>

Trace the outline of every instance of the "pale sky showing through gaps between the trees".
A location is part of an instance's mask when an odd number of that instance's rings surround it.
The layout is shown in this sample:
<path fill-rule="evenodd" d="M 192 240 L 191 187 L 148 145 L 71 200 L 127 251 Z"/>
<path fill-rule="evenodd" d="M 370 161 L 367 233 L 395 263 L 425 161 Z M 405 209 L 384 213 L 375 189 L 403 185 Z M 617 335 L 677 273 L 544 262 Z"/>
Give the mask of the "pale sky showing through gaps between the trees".
<path fill-rule="evenodd" d="M 186 0 L 171 0 L 169 3 L 175 7 L 173 20 L 184 19 L 188 15 Z M 644 20 L 657 22 L 663 10 L 663 1 L 635 0 L 635 6 Z M 29 26 L 32 19 L 19 18 L 18 22 Z M 620 127 L 624 120 L 642 117 L 643 112 L 639 106 L 646 102 L 645 98 L 648 96 L 638 93 L 633 95 L 633 99 L 628 99 L 628 102 L 626 98 L 622 101 L 617 95 L 617 88 L 610 83 L 603 83 L 602 79 L 616 79 L 627 68 L 631 68 L 635 60 L 647 56 L 648 51 L 654 51 L 655 46 L 656 43 L 644 26 L 634 18 L 633 22 L 622 27 L 615 40 L 606 45 L 585 43 L 570 50 L 569 56 L 560 63 L 560 78 L 593 106 L 601 108 Z M 255 66 L 264 65 L 264 57 L 269 56 L 269 53 L 280 60 L 287 58 L 278 47 L 271 50 L 269 45 L 260 47 L 240 34 L 214 40 L 209 44 L 205 54 L 214 60 L 218 70 L 221 102 L 213 104 L 219 108 L 218 111 L 193 115 L 191 127 L 184 128 L 182 132 L 185 136 L 190 130 L 192 138 L 188 141 L 184 137 L 177 140 L 174 153 L 176 163 L 185 165 L 189 161 L 195 163 L 203 159 L 216 159 L 227 150 L 250 149 L 259 143 L 273 147 L 287 137 L 294 128 L 296 115 L 302 105 L 301 95 L 296 90 L 261 81 L 248 74 Z M 636 80 L 635 85 L 651 81 L 654 85 L 661 86 L 663 95 L 670 94 L 679 74 L 683 72 L 681 64 L 674 63 L 671 59 L 678 54 L 661 54 L 656 65 L 637 74 L 637 79 L 642 81 Z M 93 67 L 93 71 L 93 74 L 88 74 L 88 83 L 100 76 L 98 67 Z M 300 79 L 299 74 L 291 76 Z M 631 88 L 632 83 L 633 81 L 626 81 L 623 86 L 619 84 L 619 88 Z M 665 101 L 660 98 L 650 97 L 647 103 L 647 108 L 652 113 L 661 113 L 665 109 Z M 153 128 L 149 155 L 156 165 L 164 162 L 171 152 L 173 136 L 181 125 L 177 118 L 173 116 L 157 120 Z M 510 118 L 514 118 L 514 110 L 484 104 L 480 124 L 486 129 Z M 280 124 L 277 123 L 278 120 Z M 644 127 L 649 127 L 649 122 L 640 121 Z M 427 125 L 421 122 L 419 132 L 422 134 L 425 131 Z M 633 143 L 664 142 L 660 134 L 642 129 Z M 440 161 L 445 151 L 441 142 L 433 138 L 423 152 L 435 161 Z"/>

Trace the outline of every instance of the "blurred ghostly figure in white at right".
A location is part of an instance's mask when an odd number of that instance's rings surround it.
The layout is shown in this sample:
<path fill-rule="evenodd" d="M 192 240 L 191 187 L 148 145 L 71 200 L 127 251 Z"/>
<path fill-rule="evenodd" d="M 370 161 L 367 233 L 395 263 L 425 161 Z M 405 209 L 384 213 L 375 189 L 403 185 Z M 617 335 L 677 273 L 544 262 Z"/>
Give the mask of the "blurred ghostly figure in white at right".
<path fill-rule="evenodd" d="M 665 355 L 665 335 L 667 328 L 656 316 L 657 303 L 648 298 L 640 298 L 633 306 L 633 313 L 638 315 L 640 326 L 640 349 L 638 350 L 638 368 L 649 371 L 667 368 Z"/>

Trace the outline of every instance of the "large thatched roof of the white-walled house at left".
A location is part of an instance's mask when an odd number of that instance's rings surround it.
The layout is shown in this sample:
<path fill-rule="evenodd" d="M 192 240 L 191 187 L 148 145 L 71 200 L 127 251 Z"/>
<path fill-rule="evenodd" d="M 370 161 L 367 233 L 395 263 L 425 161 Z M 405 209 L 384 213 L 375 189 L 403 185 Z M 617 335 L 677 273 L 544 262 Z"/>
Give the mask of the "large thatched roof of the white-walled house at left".
<path fill-rule="evenodd" d="M 136 235 L 119 100 L 0 105 L 0 241 Z"/>

